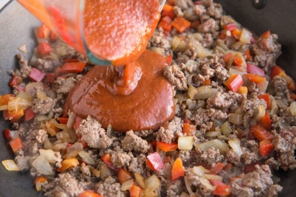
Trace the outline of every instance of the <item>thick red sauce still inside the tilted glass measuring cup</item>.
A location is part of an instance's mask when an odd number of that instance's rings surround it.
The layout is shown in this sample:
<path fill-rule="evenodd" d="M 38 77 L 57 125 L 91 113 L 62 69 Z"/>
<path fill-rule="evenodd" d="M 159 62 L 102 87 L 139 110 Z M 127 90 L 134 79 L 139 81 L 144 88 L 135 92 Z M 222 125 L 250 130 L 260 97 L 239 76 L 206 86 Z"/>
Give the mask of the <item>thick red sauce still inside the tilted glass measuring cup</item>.
<path fill-rule="evenodd" d="M 156 28 L 159 6 L 159 0 L 85 0 L 88 48 L 116 66 L 135 61 Z"/>

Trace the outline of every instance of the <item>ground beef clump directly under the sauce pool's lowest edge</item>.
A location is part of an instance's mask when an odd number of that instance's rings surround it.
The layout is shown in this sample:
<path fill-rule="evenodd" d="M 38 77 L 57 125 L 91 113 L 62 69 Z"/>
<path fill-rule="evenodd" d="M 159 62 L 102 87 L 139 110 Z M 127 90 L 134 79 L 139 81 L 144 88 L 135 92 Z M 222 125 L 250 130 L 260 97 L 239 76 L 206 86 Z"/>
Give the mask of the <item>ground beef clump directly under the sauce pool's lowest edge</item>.
<path fill-rule="evenodd" d="M 139 153 L 147 153 L 149 149 L 148 142 L 137 136 L 134 131 L 127 131 L 125 137 L 121 140 L 122 149 L 124 151 L 136 151 Z"/>

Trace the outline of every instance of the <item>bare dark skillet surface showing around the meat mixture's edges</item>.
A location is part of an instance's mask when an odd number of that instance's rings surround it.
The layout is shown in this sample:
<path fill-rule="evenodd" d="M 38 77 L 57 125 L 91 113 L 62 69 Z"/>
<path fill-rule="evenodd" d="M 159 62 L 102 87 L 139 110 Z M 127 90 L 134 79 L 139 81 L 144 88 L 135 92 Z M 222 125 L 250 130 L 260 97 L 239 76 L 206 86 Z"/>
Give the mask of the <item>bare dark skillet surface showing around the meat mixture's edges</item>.
<path fill-rule="evenodd" d="M 289 75 L 296 78 L 296 0 L 267 0 L 266 6 L 256 9 L 252 0 L 216 0 L 222 3 L 226 13 L 238 22 L 260 34 L 266 30 L 279 35 L 283 55 L 277 64 L 282 66 Z M 33 28 L 40 23 L 15 0 L 0 11 L 0 95 L 9 93 L 8 82 L 10 69 L 16 67 L 15 55 L 17 48 L 27 44 L 32 48 L 36 41 Z M 30 57 L 30 50 L 27 57 Z M 0 115 L 0 131 L 9 127 Z M 13 153 L 7 141 L 0 136 L 0 161 L 12 159 Z M 294 181 L 296 170 L 276 172 L 284 187 L 282 197 L 295 197 Z M 28 172 L 9 172 L 0 164 L 0 197 L 41 197 L 34 189 L 33 179 Z"/>

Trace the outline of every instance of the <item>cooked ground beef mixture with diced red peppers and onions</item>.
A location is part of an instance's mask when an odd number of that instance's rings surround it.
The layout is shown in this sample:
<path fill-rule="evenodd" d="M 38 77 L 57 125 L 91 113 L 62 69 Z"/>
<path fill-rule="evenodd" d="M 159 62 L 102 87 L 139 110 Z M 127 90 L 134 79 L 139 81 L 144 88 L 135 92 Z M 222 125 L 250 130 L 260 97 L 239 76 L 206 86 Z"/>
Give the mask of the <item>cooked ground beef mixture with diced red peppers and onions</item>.
<path fill-rule="evenodd" d="M 275 65 L 278 36 L 255 35 L 219 3 L 164 6 L 148 49 L 170 61 L 176 112 L 156 131 L 116 132 L 64 112 L 92 65 L 36 31 L 33 57 L 17 55 L 13 93 L 0 99 L 15 154 L 2 164 L 29 170 L 46 197 L 276 197 L 272 172 L 296 168 L 296 85 Z"/>

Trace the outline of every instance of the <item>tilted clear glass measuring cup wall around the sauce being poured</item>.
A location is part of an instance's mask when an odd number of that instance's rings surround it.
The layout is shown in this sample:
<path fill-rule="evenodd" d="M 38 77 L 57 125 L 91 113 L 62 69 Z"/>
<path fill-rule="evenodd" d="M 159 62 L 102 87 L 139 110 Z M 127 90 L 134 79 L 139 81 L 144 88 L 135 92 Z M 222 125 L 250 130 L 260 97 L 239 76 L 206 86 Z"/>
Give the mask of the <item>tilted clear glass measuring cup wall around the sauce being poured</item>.
<path fill-rule="evenodd" d="M 83 34 L 84 0 L 18 0 L 51 31 L 59 35 L 93 64 L 111 65 L 88 48 Z M 165 0 L 160 1 L 162 9 Z"/>

